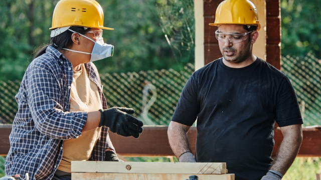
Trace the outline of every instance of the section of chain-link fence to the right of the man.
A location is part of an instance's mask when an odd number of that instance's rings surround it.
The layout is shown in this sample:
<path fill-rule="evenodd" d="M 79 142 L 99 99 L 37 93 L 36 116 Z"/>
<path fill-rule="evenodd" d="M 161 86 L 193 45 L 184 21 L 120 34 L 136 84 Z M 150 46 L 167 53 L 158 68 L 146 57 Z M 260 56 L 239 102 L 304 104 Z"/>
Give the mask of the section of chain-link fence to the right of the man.
<path fill-rule="evenodd" d="M 287 55 L 281 63 L 295 89 L 304 126 L 321 125 L 321 60 L 308 53 L 304 58 Z"/>

